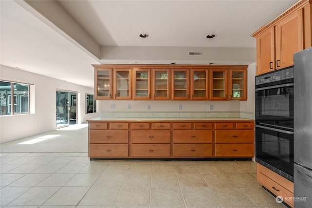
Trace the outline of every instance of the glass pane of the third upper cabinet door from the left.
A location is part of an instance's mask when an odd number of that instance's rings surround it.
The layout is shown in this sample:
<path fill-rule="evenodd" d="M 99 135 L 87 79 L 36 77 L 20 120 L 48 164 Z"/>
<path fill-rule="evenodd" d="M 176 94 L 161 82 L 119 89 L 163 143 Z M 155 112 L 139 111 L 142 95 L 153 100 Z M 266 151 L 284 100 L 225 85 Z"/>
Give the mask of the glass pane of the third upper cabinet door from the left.
<path fill-rule="evenodd" d="M 136 71 L 135 79 L 136 98 L 150 98 L 150 71 Z"/>

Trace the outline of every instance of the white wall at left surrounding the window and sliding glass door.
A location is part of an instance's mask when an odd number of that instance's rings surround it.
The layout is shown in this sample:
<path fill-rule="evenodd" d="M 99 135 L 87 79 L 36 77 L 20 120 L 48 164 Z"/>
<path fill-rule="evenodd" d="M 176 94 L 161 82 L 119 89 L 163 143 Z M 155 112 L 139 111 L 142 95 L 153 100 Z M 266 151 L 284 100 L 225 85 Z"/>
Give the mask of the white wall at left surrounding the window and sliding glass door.
<path fill-rule="evenodd" d="M 99 116 L 99 113 L 85 113 L 85 94 L 94 94 L 92 88 L 3 65 L 0 65 L 0 78 L 12 82 L 34 84 L 35 90 L 35 106 L 30 106 L 34 109 L 31 113 L 0 116 L 0 143 L 55 130 L 57 90 L 78 92 L 78 123 L 85 123 L 87 119 Z M 30 99 L 32 99 L 31 96 L 30 94 Z"/>

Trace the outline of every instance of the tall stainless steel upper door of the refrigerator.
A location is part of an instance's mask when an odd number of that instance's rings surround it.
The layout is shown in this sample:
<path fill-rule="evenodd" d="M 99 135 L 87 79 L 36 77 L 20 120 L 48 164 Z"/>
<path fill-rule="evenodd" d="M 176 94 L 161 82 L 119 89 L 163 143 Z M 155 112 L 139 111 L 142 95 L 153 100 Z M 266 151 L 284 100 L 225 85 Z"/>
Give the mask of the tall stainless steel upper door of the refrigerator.
<path fill-rule="evenodd" d="M 294 162 L 312 169 L 312 47 L 294 58 Z"/>

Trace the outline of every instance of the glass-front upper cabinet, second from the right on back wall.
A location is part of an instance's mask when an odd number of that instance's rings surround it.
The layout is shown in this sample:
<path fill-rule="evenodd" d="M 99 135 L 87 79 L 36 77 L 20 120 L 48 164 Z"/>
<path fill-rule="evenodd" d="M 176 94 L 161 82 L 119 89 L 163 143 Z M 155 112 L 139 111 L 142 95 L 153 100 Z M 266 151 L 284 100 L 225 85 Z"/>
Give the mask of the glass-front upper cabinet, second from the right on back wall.
<path fill-rule="evenodd" d="M 228 70 L 211 69 L 210 70 L 210 99 L 227 100 L 228 99 Z"/>

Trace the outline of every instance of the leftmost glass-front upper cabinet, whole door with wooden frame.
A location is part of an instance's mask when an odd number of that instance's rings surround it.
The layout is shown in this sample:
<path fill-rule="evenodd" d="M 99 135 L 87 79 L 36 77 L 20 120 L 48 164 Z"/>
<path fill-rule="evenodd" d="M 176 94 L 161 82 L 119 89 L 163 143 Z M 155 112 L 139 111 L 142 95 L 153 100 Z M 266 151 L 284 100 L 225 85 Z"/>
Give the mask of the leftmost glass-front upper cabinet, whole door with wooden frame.
<path fill-rule="evenodd" d="M 96 99 L 112 99 L 112 69 L 96 68 L 95 69 L 95 95 Z"/>

